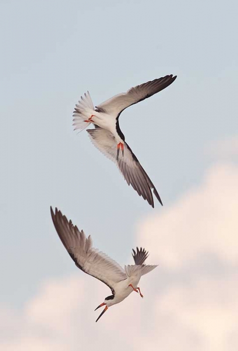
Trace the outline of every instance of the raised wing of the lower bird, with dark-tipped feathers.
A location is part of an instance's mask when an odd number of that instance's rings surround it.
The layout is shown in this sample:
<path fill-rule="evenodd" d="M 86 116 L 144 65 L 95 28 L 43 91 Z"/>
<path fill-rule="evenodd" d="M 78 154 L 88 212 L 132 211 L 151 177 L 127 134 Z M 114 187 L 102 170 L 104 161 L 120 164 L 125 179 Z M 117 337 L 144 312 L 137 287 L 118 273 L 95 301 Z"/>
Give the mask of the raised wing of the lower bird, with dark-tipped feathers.
<path fill-rule="evenodd" d="M 104 253 L 92 248 L 90 235 L 86 238 L 84 232 L 79 231 L 57 208 L 55 213 L 51 208 L 51 216 L 60 240 L 76 266 L 105 283 L 114 294 L 114 285 L 127 278 L 123 268 Z"/>

